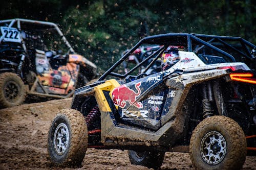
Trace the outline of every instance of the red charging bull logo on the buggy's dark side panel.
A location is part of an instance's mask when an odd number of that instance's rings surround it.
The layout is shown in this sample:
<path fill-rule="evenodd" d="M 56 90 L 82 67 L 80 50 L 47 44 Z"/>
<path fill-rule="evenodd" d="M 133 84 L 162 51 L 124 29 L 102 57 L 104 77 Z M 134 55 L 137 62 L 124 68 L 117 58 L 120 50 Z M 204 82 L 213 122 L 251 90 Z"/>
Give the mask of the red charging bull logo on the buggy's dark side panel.
<path fill-rule="evenodd" d="M 112 92 L 112 99 L 116 106 L 119 106 L 121 108 L 124 108 L 129 102 L 131 106 L 135 106 L 138 109 L 143 108 L 143 105 L 141 102 L 137 102 L 136 98 L 140 95 L 141 82 L 138 82 L 135 84 L 135 88 L 137 92 L 135 92 L 133 89 L 130 89 L 129 87 L 125 85 L 121 85 L 120 87 L 117 87 Z"/>

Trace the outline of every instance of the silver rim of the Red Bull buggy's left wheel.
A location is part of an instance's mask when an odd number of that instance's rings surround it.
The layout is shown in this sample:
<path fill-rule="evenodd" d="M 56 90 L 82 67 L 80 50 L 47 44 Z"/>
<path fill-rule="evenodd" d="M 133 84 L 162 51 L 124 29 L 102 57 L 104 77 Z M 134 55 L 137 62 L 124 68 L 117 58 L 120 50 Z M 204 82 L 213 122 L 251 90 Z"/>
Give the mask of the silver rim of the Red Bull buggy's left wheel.
<path fill-rule="evenodd" d="M 63 155 L 68 148 L 69 129 L 66 124 L 59 124 L 54 132 L 53 145 L 58 155 Z"/>

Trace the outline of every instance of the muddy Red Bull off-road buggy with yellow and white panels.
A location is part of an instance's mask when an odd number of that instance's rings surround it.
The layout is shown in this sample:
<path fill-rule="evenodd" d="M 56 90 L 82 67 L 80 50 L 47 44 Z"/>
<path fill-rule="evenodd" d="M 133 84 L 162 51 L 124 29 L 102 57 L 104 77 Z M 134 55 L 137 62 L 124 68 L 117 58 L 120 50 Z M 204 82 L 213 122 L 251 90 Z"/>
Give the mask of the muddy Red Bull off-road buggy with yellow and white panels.
<path fill-rule="evenodd" d="M 149 44 L 160 48 L 119 74 L 125 58 Z M 169 46 L 181 47 L 179 61 L 146 75 Z M 256 150 L 254 48 L 240 37 L 169 33 L 141 39 L 98 81 L 76 89 L 71 108 L 57 114 L 48 133 L 50 160 L 72 166 L 87 148 L 127 149 L 132 164 L 151 168 L 174 151 L 189 152 L 196 169 L 242 168 L 247 150 Z"/>

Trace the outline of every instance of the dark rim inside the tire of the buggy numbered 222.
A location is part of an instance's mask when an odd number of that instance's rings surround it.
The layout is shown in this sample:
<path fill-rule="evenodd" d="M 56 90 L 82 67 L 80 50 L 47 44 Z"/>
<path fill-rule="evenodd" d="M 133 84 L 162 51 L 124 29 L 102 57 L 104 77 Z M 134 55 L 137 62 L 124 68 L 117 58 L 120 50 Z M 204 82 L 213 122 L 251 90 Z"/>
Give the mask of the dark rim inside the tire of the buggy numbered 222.
<path fill-rule="evenodd" d="M 20 91 L 20 87 L 18 83 L 16 83 L 15 81 L 8 81 L 5 84 L 5 87 L 4 87 L 5 98 L 10 102 L 13 102 L 17 99 L 17 96 L 19 95 L 19 91 Z"/>

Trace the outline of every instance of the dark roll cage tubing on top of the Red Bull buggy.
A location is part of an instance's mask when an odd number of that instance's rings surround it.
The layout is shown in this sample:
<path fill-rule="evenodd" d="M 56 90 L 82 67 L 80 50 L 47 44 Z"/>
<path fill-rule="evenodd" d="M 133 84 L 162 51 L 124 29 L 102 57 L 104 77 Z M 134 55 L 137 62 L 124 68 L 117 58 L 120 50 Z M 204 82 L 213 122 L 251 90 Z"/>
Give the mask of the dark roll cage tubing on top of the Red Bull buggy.
<path fill-rule="evenodd" d="M 172 41 L 172 39 L 174 39 L 174 40 Z M 184 39 L 186 41 L 184 41 Z M 216 46 L 214 46 L 210 43 L 211 42 L 220 42 L 224 46 L 227 46 L 227 47 L 231 48 L 232 50 L 238 52 L 242 56 L 244 56 L 246 58 L 249 58 L 249 59 L 252 59 L 252 57 L 250 55 L 250 51 L 249 51 L 247 46 L 249 46 L 251 48 L 256 48 L 256 46 L 254 44 L 250 43 L 249 41 L 246 41 L 245 39 L 243 39 L 241 37 L 216 36 L 216 35 L 204 35 L 204 34 L 190 34 L 190 33 L 167 33 L 167 34 L 159 34 L 159 35 L 154 35 L 154 36 L 148 36 L 148 37 L 145 37 L 145 38 L 141 39 L 134 47 L 132 47 L 131 50 L 129 50 L 129 52 L 127 52 L 124 56 L 122 56 L 114 65 L 112 65 L 98 79 L 98 81 L 104 80 L 107 76 L 114 76 L 114 77 L 117 77 L 117 78 L 125 78 L 126 76 L 130 75 L 134 70 L 136 70 L 139 66 L 141 66 L 146 60 L 151 59 L 154 55 L 163 51 L 168 45 L 172 45 L 172 44 L 177 45 L 177 43 L 180 43 L 180 42 L 177 42 L 178 40 L 184 41 L 183 42 L 184 46 L 187 45 L 187 52 L 194 52 L 195 53 L 195 52 L 198 52 L 204 46 L 207 46 L 209 48 L 212 48 L 212 50 L 215 50 L 215 51 L 221 53 L 222 55 L 226 56 L 227 58 L 230 59 L 231 62 L 236 62 L 236 59 L 232 55 L 230 55 L 229 53 L 221 50 L 220 48 L 218 48 L 218 47 L 216 47 Z M 193 49 L 192 49 L 192 40 L 195 40 L 196 42 L 201 43 L 202 45 L 200 47 L 196 48 L 193 51 Z M 225 41 L 238 41 L 238 42 L 240 42 L 243 49 L 245 49 L 247 54 L 244 54 L 243 52 L 239 51 L 237 48 L 231 46 L 230 44 L 228 44 Z M 132 68 L 126 74 L 121 75 L 121 74 L 117 74 L 115 72 L 112 72 L 117 66 L 120 65 L 120 63 L 122 63 L 126 58 L 128 58 L 141 44 L 145 44 L 145 43 L 146 44 L 163 44 L 163 46 L 160 47 L 153 54 L 148 56 L 146 59 L 141 61 L 138 65 L 136 65 L 134 68 Z M 159 54 L 161 54 L 161 53 L 159 53 Z M 154 61 L 155 61 L 155 59 L 154 59 Z M 150 68 L 150 66 L 152 64 L 153 64 L 153 62 L 150 63 L 150 65 L 148 65 L 146 69 Z"/>

